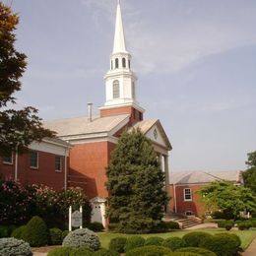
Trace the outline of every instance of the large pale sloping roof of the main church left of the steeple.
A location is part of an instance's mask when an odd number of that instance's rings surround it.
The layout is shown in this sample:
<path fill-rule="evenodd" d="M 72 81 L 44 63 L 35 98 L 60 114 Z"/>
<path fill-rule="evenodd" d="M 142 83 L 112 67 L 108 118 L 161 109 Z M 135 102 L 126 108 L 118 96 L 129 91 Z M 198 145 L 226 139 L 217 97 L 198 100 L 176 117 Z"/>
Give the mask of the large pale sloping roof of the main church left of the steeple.
<path fill-rule="evenodd" d="M 92 121 L 88 116 L 67 118 L 61 120 L 45 121 L 45 128 L 53 130 L 58 137 L 111 133 L 119 124 L 128 123 L 129 114 L 121 114 L 105 117 L 93 117 Z"/>

